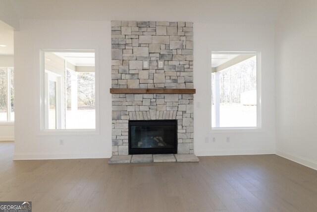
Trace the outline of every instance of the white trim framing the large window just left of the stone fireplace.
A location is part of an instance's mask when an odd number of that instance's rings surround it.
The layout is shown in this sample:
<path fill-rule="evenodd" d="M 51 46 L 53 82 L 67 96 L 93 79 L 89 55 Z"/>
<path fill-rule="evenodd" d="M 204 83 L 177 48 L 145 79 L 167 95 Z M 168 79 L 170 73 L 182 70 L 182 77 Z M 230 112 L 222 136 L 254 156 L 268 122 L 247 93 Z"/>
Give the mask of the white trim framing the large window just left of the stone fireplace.
<path fill-rule="evenodd" d="M 46 129 L 46 110 L 45 110 L 45 53 L 46 52 L 94 52 L 95 53 L 95 86 L 96 86 L 96 128 L 95 129 Z M 40 113 L 38 136 L 55 135 L 100 135 L 100 107 L 99 107 L 99 52 L 94 49 L 40 49 Z"/>

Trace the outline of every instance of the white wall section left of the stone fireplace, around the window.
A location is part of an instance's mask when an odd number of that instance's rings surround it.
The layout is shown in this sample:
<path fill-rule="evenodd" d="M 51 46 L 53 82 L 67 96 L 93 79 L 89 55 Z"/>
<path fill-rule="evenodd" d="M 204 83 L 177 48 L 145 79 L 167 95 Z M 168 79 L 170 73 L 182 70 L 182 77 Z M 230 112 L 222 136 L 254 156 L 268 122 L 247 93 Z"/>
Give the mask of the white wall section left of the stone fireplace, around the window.
<path fill-rule="evenodd" d="M 14 159 L 94 158 L 111 155 L 111 26 L 109 21 L 21 20 L 14 33 Z M 96 49 L 100 131 L 68 135 L 40 129 L 40 49 Z M 59 145 L 64 139 L 64 145 Z"/>

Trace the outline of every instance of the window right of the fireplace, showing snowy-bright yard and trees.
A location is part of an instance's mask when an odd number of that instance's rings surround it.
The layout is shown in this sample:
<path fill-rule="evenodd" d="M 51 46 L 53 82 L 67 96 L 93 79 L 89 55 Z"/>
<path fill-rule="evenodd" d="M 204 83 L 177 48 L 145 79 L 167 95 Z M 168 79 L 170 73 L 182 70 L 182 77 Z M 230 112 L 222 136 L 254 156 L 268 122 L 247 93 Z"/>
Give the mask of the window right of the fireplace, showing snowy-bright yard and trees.
<path fill-rule="evenodd" d="M 259 128 L 256 52 L 211 53 L 211 128 Z"/>

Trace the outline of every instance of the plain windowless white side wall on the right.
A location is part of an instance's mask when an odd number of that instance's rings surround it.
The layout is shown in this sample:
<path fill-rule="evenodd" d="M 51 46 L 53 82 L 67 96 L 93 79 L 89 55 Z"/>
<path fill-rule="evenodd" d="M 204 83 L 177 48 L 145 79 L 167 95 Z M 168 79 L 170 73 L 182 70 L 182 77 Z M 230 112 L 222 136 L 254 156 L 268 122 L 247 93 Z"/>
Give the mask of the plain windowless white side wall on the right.
<path fill-rule="evenodd" d="M 276 23 L 276 153 L 317 169 L 317 1 L 289 0 Z"/>

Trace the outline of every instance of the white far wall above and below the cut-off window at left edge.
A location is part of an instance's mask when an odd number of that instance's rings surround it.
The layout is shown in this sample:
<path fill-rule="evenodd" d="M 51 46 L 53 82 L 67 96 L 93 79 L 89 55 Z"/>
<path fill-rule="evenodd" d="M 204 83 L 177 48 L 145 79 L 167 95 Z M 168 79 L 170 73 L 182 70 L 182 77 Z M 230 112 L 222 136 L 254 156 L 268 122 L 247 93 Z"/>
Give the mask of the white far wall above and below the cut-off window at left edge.
<path fill-rule="evenodd" d="M 0 67 L 14 67 L 13 56 L 0 56 Z M 0 123 L 0 141 L 14 140 L 14 123 Z"/>

